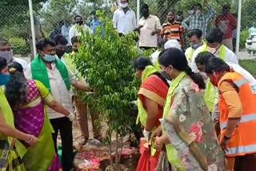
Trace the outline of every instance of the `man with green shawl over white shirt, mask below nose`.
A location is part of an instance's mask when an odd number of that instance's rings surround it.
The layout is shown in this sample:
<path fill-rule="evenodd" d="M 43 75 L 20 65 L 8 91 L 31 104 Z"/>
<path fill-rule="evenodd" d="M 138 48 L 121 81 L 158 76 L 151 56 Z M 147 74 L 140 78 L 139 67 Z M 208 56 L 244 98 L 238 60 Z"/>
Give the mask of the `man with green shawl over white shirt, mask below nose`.
<path fill-rule="evenodd" d="M 69 111 L 73 105 L 70 97 L 70 85 L 76 89 L 90 91 L 90 86 L 79 82 L 78 78 L 66 68 L 56 56 L 56 46 L 50 38 L 42 38 L 37 44 L 38 54 L 26 68 L 26 78 L 42 82 L 59 104 Z M 57 136 L 60 131 L 62 138 L 62 168 L 64 171 L 73 167 L 73 136 L 72 122 L 61 113 L 46 108 L 50 123 L 54 128 L 53 139 L 57 150 Z"/>

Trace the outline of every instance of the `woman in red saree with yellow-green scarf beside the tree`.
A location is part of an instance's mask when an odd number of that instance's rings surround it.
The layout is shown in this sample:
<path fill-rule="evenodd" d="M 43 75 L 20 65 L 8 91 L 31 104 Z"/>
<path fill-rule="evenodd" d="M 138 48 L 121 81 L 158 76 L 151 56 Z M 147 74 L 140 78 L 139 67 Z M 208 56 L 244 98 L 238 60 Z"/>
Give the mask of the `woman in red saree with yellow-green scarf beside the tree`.
<path fill-rule="evenodd" d="M 150 148 L 152 141 L 151 134 L 160 125 L 159 119 L 162 118 L 163 104 L 166 100 L 166 94 L 169 84 L 166 79 L 156 70 L 149 58 L 139 57 L 134 61 L 134 69 L 138 78 L 142 79 L 142 85 L 138 90 L 138 121 L 144 127 L 145 143 L 149 145 L 148 157 L 150 164 L 145 168 L 142 166 L 143 153 L 141 162 L 138 163 L 138 171 L 154 170 L 158 164 L 159 152 L 154 148 Z M 144 149 L 144 148 L 142 148 Z"/>

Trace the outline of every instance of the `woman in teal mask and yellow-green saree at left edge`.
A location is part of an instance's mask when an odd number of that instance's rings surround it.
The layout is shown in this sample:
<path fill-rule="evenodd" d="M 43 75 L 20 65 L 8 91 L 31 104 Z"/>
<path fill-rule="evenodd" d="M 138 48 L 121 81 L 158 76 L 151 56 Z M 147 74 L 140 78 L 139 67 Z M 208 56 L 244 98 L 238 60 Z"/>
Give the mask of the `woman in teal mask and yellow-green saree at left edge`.
<path fill-rule="evenodd" d="M 6 59 L 0 57 L 0 170 L 23 171 L 26 170 L 22 162 L 26 148 L 16 139 L 35 145 L 38 138 L 14 128 L 14 115 L 2 92 L 9 78 Z"/>

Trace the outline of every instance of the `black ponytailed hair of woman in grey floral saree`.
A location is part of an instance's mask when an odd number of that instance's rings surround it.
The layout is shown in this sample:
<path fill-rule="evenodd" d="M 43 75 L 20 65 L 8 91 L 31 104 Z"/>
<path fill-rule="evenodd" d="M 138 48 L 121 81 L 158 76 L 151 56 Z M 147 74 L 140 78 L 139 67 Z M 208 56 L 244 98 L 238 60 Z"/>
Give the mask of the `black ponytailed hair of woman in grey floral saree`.
<path fill-rule="evenodd" d="M 158 62 L 162 66 L 167 67 L 171 65 L 175 70 L 185 71 L 186 74 L 188 74 L 190 78 L 198 84 L 200 89 L 206 88 L 202 75 L 192 72 L 190 66 L 188 66 L 186 56 L 181 50 L 178 50 L 177 48 L 168 48 L 163 50 L 159 54 Z"/>

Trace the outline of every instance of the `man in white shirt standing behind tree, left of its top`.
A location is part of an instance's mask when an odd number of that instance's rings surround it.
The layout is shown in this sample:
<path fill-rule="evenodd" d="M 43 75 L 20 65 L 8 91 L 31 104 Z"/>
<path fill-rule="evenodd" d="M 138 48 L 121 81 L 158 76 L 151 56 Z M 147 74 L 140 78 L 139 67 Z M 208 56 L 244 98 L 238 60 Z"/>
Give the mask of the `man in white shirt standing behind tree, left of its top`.
<path fill-rule="evenodd" d="M 88 30 L 90 34 L 92 34 L 92 30 L 90 30 L 90 27 L 87 26 L 86 24 L 84 24 L 84 21 L 82 19 L 82 17 L 80 15 L 76 15 L 74 17 L 74 22 L 76 23 L 74 26 L 71 26 L 70 28 L 70 33 L 69 33 L 69 41 L 71 43 L 71 38 L 80 36 L 81 33 L 78 32 L 78 30 L 76 29 L 76 26 L 83 26 L 85 30 Z"/>

